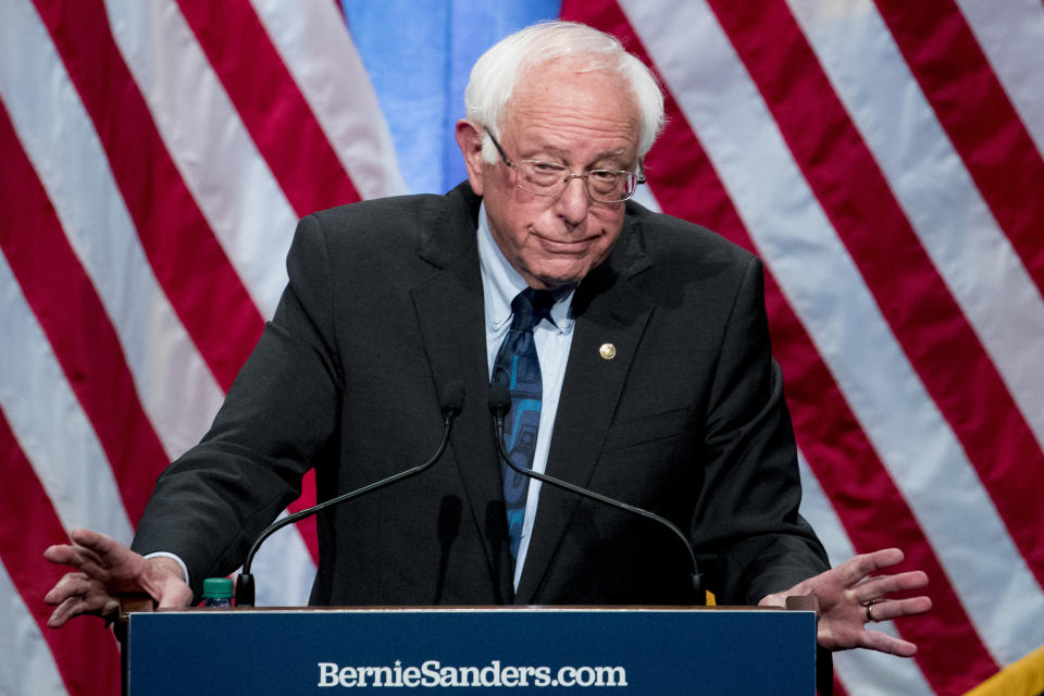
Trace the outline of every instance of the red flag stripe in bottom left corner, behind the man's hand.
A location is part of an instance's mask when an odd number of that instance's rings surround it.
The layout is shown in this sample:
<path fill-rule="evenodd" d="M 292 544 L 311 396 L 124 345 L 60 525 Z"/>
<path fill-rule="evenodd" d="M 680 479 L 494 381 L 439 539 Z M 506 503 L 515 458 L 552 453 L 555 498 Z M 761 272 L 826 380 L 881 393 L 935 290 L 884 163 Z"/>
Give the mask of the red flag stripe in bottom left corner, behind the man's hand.
<path fill-rule="evenodd" d="M 65 687 L 83 696 L 119 694 L 120 655 L 100 620 L 79 619 L 59 631 L 47 626 L 52 607 L 44 604 L 44 595 L 67 569 L 45 561 L 44 549 L 67 544 L 69 538 L 2 411 L 0 471 L 0 509 L 8 511 L 0 515 L 0 560 L 44 634 Z M 4 623 L 4 630 L 10 630 L 7 613 Z M 18 669 L 8 658 L 4 661 L 3 669 Z"/>

